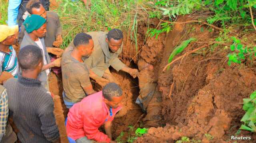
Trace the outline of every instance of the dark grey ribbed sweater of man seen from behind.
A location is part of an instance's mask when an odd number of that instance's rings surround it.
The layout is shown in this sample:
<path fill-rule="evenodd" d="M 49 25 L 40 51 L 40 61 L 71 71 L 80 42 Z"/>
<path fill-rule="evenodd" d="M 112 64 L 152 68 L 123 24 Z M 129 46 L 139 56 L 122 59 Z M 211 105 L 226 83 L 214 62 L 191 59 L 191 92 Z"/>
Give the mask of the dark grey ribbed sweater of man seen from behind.
<path fill-rule="evenodd" d="M 22 143 L 51 143 L 60 138 L 52 97 L 38 79 L 19 74 L 18 79 L 10 78 L 4 86 Z"/>

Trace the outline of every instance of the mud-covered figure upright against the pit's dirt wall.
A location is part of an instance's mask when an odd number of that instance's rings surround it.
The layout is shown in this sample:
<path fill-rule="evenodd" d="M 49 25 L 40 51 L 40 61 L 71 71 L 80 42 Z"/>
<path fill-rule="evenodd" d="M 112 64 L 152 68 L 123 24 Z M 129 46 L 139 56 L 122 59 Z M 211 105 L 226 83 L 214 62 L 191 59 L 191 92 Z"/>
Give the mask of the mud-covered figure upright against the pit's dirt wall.
<path fill-rule="evenodd" d="M 140 95 L 136 100 L 144 112 L 147 113 L 143 119 L 145 127 L 158 127 L 161 120 L 161 94 L 157 89 L 157 78 L 154 74 L 153 65 L 143 59 L 138 61 Z"/>

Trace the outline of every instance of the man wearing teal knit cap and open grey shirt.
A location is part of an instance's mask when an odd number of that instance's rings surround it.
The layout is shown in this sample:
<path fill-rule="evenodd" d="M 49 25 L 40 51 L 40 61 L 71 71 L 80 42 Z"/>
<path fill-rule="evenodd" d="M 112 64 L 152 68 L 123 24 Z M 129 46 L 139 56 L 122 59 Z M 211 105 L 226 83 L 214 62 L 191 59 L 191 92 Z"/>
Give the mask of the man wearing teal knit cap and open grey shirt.
<path fill-rule="evenodd" d="M 42 50 L 44 66 L 42 67 L 42 72 L 38 75 L 38 78 L 42 82 L 42 85 L 49 90 L 48 74 L 50 73 L 50 68 L 60 67 L 61 58 L 58 58 L 53 62 L 50 61 L 50 57 L 44 44 L 46 20 L 39 15 L 32 14 L 26 18 L 23 25 L 26 31 L 20 44 L 20 48 L 27 45 L 35 45 Z"/>

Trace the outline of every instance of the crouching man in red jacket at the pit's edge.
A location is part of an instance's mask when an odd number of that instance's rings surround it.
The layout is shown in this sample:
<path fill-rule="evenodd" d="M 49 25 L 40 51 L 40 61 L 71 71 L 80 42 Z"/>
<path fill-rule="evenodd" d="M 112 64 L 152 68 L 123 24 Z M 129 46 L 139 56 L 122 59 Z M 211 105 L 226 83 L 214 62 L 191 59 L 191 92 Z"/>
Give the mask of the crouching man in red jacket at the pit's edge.
<path fill-rule="evenodd" d="M 108 83 L 102 91 L 84 98 L 70 108 L 67 119 L 68 137 L 76 143 L 94 141 L 115 143 L 112 141 L 111 123 L 122 108 L 122 89 L 116 83 Z M 106 134 L 98 128 L 104 124 Z"/>

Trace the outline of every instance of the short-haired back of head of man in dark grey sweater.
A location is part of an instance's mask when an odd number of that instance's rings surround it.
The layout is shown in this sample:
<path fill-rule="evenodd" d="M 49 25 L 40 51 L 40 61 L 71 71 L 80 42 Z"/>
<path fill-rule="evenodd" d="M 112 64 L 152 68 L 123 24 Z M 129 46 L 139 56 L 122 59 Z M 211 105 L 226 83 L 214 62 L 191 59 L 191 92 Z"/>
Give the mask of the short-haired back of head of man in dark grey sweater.
<path fill-rule="evenodd" d="M 34 70 L 42 61 L 42 51 L 34 45 L 27 45 L 22 48 L 18 55 L 18 63 L 22 70 Z"/>

